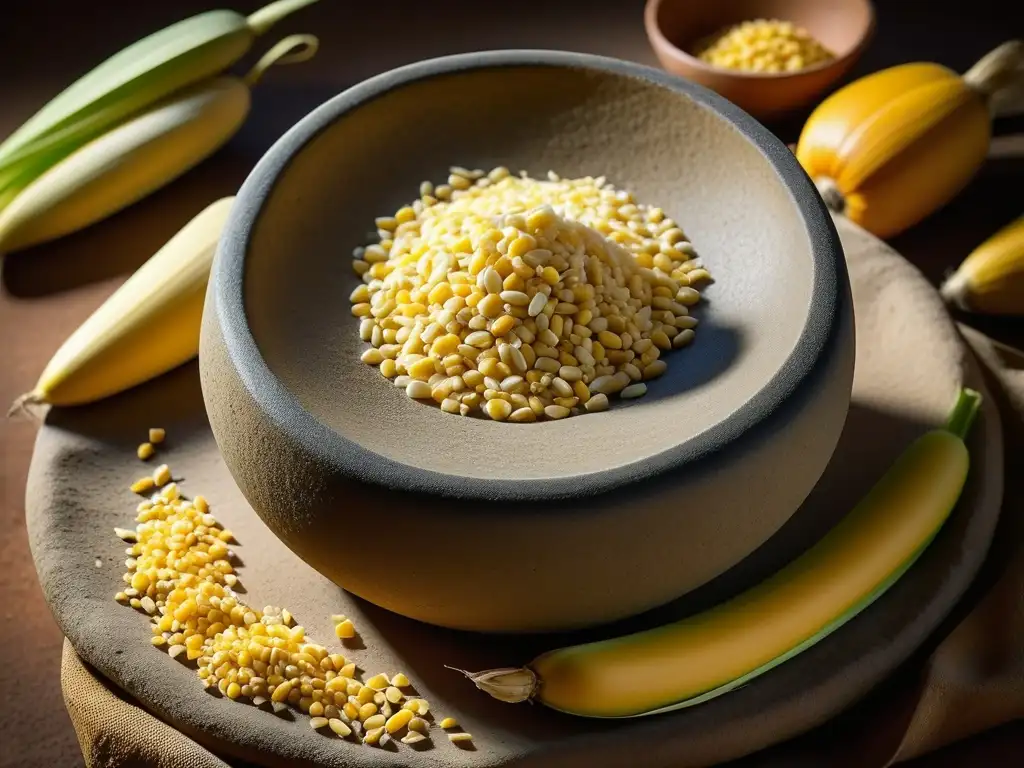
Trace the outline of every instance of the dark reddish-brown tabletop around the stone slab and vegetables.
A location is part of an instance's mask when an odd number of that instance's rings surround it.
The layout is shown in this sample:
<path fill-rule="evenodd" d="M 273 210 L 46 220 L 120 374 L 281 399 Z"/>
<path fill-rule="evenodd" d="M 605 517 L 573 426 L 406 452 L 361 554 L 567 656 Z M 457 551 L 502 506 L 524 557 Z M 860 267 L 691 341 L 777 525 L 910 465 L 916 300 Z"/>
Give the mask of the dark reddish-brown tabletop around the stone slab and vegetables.
<path fill-rule="evenodd" d="M 693 0 L 694 2 L 701 0 Z M 708 0 L 709 2 L 720 0 Z M 828 2 L 829 0 L 822 0 Z M 32 0 L 0 20 L 0 136 L 85 70 L 145 34 L 207 8 L 249 11 L 236 0 L 138 2 Z M 877 0 L 879 29 L 850 77 L 910 60 L 958 71 L 1011 37 L 1024 36 L 1018 3 Z M 355 6 L 355 7 L 353 7 Z M 948 6 L 948 7 L 946 7 Z M 215 198 L 231 194 L 290 125 L 359 80 L 417 59 L 490 48 L 560 48 L 655 65 L 642 2 L 348 3 L 322 0 L 283 24 L 279 36 L 312 32 L 316 58 L 275 68 L 254 93 L 251 117 L 217 156 L 116 217 L 58 243 L 2 261 L 0 403 L 31 388 L 66 336 L 124 278 Z M 272 36 L 276 37 L 276 36 Z M 266 43 L 265 45 L 268 45 Z M 261 48 L 262 49 L 262 46 Z M 805 115 L 769 126 L 795 141 Z M 429 130 L 429 126 L 423 127 Z M 893 241 L 933 282 L 971 248 L 1024 212 L 1024 120 L 996 124 L 992 157 L 951 205 Z M 1018 135 L 1014 135 L 1018 134 Z M 1016 184 L 1016 185 L 1015 185 Z M 1024 346 L 1024 322 L 970 319 Z M 36 581 L 25 532 L 25 478 L 36 425 L 0 424 L 0 766 L 73 766 L 81 755 L 59 690 L 61 637 Z M 827 732 L 812 738 L 829 737 Z M 913 763 L 916 768 L 1001 765 L 1024 755 L 1024 724 L 1008 725 Z M 746 764 L 746 761 L 743 761 Z"/>

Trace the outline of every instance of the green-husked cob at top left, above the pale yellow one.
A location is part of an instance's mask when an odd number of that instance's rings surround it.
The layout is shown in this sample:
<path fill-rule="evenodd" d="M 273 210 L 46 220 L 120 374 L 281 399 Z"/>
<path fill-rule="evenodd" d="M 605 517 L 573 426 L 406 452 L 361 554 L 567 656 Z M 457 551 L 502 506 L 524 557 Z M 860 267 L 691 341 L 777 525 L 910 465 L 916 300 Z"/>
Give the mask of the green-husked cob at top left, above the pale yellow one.
<path fill-rule="evenodd" d="M 46 169 L 131 116 L 227 69 L 255 38 L 315 0 L 279 0 L 246 17 L 214 10 L 115 54 L 54 97 L 0 144 L 0 210 Z"/>

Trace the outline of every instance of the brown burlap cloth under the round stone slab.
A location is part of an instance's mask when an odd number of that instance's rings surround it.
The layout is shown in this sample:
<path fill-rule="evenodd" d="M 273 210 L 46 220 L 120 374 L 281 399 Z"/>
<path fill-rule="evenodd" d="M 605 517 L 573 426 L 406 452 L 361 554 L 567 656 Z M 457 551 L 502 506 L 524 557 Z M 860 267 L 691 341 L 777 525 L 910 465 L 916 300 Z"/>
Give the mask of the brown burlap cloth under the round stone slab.
<path fill-rule="evenodd" d="M 857 233 L 841 226 L 844 242 Z M 860 238 L 848 253 L 871 258 Z M 882 244 L 876 244 L 881 250 Z M 885 343 L 872 290 L 853 269 L 857 333 Z M 877 275 L 874 275 L 877 276 Z M 863 311 L 867 309 L 868 311 Z M 986 373 L 1002 416 L 1006 467 L 1000 530 L 986 567 L 926 659 L 902 670 L 867 706 L 856 708 L 816 734 L 741 762 L 743 766 L 884 766 L 916 757 L 1024 716 L 1024 353 L 962 326 L 966 343 Z M 900 333 L 907 329 L 900 328 Z M 892 333 L 892 331 L 890 331 Z M 160 721 L 88 668 L 65 643 L 61 688 L 89 766 L 224 768 L 225 763 Z M 866 714 L 865 714 L 866 713 Z M 855 746 L 855 749 L 854 749 Z M 232 765 L 240 765 L 234 762 Z"/>

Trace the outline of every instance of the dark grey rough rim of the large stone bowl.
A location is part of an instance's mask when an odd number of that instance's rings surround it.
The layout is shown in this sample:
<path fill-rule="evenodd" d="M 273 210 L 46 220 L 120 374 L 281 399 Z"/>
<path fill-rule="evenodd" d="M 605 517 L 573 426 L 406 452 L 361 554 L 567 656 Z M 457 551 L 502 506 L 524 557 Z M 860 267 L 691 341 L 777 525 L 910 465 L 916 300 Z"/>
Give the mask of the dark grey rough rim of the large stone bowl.
<path fill-rule="evenodd" d="M 256 222 L 291 161 L 344 115 L 411 83 L 470 71 L 565 68 L 625 76 L 682 94 L 733 125 L 768 161 L 800 212 L 811 244 L 812 294 L 804 329 L 778 371 L 743 406 L 705 432 L 639 462 L 599 472 L 553 478 L 466 477 L 414 467 L 369 451 L 335 432 L 302 408 L 259 352 L 245 310 L 244 275 Z M 799 411 L 830 364 L 848 311 L 849 279 L 843 248 L 820 196 L 793 153 L 745 112 L 713 91 L 641 65 L 583 53 L 502 50 L 464 53 L 400 67 L 355 85 L 301 119 L 263 156 L 240 189 L 210 276 L 213 307 L 231 365 L 257 407 L 296 444 L 355 481 L 465 500 L 530 502 L 579 499 L 621 489 L 698 462 L 741 455 L 748 433 L 770 435 Z"/>

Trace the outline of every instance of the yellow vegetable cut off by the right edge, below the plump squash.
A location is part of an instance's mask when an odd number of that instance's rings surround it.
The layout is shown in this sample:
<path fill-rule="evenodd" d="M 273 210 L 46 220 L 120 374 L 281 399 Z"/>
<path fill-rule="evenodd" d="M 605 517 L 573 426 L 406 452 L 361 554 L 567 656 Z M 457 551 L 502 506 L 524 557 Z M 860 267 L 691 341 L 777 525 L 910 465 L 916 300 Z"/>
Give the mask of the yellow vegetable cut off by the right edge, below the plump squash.
<path fill-rule="evenodd" d="M 972 251 L 943 283 L 942 296 L 972 312 L 1024 315 L 1024 216 Z"/>

